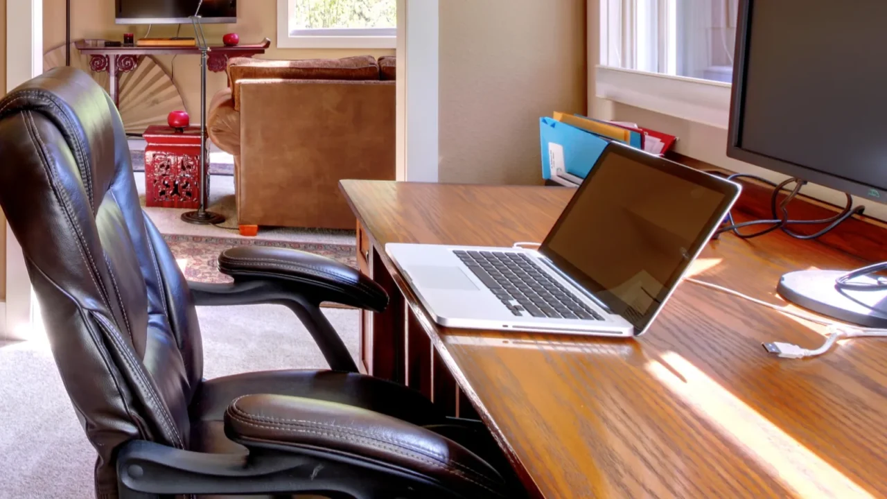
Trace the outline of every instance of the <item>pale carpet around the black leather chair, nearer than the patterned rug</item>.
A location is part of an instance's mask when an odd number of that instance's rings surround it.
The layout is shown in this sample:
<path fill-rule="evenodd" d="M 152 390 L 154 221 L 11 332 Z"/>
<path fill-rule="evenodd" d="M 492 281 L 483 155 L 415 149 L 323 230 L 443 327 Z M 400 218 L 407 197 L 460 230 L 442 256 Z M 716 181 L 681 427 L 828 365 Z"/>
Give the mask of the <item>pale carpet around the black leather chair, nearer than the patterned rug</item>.
<path fill-rule="evenodd" d="M 326 368 L 293 313 L 279 305 L 199 307 L 204 376 Z M 357 355 L 357 311 L 325 309 Z M 95 454 L 61 384 L 49 346 L 0 343 L 0 498 L 91 499 Z"/>

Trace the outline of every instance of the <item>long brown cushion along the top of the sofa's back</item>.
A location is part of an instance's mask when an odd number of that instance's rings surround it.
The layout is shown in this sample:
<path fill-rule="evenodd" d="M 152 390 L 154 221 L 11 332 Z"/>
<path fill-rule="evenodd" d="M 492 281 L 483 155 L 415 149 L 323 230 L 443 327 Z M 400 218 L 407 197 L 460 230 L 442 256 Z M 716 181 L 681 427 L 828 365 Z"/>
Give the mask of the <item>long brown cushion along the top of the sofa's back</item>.
<path fill-rule="evenodd" d="M 234 109 L 240 110 L 239 81 L 256 78 L 379 80 L 379 65 L 371 55 L 300 60 L 234 58 L 228 61 L 228 79 L 234 95 Z"/>

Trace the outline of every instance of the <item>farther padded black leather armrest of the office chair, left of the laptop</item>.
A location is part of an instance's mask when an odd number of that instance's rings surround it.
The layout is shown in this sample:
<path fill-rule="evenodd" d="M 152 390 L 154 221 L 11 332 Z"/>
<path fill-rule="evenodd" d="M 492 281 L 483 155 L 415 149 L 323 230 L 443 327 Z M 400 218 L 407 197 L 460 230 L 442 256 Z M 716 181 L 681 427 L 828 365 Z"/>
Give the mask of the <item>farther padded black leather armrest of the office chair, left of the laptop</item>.
<path fill-rule="evenodd" d="M 218 257 L 219 272 L 235 281 L 275 280 L 320 302 L 382 312 L 389 297 L 370 278 L 339 262 L 295 249 L 239 246 Z"/>

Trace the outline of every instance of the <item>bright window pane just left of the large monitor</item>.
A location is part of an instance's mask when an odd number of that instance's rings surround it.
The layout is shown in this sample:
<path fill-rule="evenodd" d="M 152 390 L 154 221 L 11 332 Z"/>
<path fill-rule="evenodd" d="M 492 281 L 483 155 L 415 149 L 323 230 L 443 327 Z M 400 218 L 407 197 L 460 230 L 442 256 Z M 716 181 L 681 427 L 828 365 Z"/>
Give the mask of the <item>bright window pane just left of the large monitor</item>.
<path fill-rule="evenodd" d="M 730 83 L 738 0 L 601 0 L 600 63 Z"/>

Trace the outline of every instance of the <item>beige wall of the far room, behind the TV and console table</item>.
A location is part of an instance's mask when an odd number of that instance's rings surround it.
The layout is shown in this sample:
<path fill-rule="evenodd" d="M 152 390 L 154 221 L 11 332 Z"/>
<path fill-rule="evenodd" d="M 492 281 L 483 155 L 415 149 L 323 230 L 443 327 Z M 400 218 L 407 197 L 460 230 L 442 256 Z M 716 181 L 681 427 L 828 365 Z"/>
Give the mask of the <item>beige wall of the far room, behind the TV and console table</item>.
<path fill-rule="evenodd" d="M 72 0 L 71 37 L 108 38 L 122 40 L 123 33 L 145 36 L 147 26 L 118 26 L 114 24 L 114 0 Z M 263 59 L 340 58 L 356 54 L 394 55 L 394 50 L 341 49 L 278 49 L 277 0 L 246 0 L 239 3 L 237 24 L 207 25 L 210 44 L 221 44 L 225 33 L 236 32 L 242 43 L 256 43 L 271 38 L 271 48 Z M 175 36 L 176 26 L 154 26 L 151 36 Z M 190 25 L 182 26 L 181 36 L 193 36 Z M 50 49 L 65 43 L 65 0 L 43 0 L 43 47 Z M 169 71 L 171 56 L 158 57 Z M 175 81 L 182 92 L 184 104 L 192 115 L 192 122 L 200 115 L 200 58 L 179 56 L 175 61 Z M 227 86 L 224 73 L 208 73 L 208 99 Z"/>

